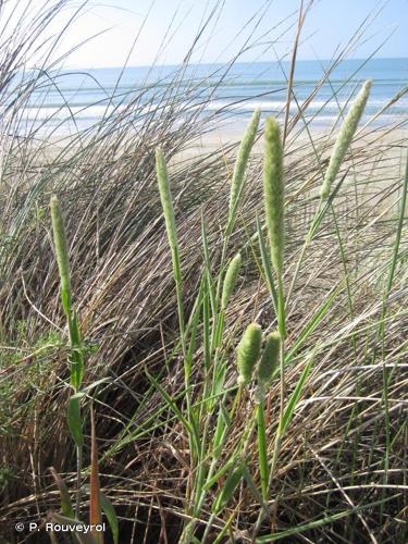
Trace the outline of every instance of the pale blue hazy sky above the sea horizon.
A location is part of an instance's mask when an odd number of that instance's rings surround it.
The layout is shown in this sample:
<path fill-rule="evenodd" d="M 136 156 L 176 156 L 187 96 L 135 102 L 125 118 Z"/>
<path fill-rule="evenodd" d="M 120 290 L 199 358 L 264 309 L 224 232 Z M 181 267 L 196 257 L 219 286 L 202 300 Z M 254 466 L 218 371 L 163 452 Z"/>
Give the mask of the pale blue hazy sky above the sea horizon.
<path fill-rule="evenodd" d="M 129 64 L 145 65 L 154 60 L 176 64 L 193 42 L 200 21 L 217 3 L 215 0 L 90 0 L 67 34 L 64 47 L 72 47 L 98 32 L 107 32 L 75 52 L 70 65 L 123 65 L 136 35 L 138 40 Z M 296 21 L 300 0 L 225 0 L 223 10 L 217 13 L 193 60 L 217 62 L 230 59 L 249 34 L 249 27 L 244 33 L 239 34 L 239 30 L 265 4 L 269 9 L 256 29 L 261 45 L 247 51 L 242 60 L 273 60 L 276 54 L 287 54 L 294 38 L 290 24 Z M 305 24 L 298 57 L 331 58 L 338 45 L 347 44 L 364 17 L 373 16 L 381 8 L 360 46 L 350 55 L 367 57 L 387 40 L 378 57 L 408 57 L 408 0 L 314 0 Z M 276 27 L 285 18 L 286 22 Z M 171 32 L 166 35 L 169 25 Z M 271 32 L 273 27 L 276 28 Z M 267 32 L 270 34 L 262 36 Z M 165 47 L 161 47 L 162 40 Z M 157 59 L 158 51 L 161 52 Z"/>

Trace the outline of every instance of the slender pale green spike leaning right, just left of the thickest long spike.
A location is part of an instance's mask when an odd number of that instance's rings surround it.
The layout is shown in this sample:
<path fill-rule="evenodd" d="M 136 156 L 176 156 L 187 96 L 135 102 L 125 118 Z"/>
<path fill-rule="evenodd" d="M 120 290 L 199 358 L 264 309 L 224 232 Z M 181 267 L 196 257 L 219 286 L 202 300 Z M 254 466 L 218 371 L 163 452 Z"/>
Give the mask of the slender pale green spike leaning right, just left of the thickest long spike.
<path fill-rule="evenodd" d="M 243 140 L 239 146 L 238 154 L 234 166 L 233 180 L 231 183 L 228 222 L 232 220 L 234 215 L 236 201 L 242 190 L 245 170 L 247 168 L 249 153 L 252 149 L 254 141 L 257 136 L 260 115 L 261 115 L 261 110 L 258 108 L 252 113 L 251 120 L 247 126 L 247 129 L 245 131 Z"/>

